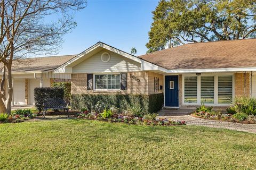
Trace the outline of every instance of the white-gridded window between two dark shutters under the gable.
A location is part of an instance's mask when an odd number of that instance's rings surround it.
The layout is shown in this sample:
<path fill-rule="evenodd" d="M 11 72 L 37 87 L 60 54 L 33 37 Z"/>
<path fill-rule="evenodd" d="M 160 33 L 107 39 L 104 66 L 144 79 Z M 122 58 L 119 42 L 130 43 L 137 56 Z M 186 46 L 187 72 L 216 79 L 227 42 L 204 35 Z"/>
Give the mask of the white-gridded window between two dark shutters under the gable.
<path fill-rule="evenodd" d="M 120 74 L 95 74 L 96 90 L 119 90 Z"/>

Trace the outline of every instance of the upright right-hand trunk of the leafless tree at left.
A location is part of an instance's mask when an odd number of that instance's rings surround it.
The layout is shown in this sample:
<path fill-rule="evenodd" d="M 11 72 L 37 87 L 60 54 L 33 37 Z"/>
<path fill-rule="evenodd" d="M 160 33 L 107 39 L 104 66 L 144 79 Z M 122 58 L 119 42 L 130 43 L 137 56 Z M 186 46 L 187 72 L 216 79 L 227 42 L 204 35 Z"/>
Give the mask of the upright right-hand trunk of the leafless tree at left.
<path fill-rule="evenodd" d="M 11 62 L 6 65 L 7 69 L 7 85 L 8 85 L 8 93 L 7 93 L 7 100 L 6 100 L 6 113 L 11 114 L 12 110 L 12 70 L 11 70 Z"/>

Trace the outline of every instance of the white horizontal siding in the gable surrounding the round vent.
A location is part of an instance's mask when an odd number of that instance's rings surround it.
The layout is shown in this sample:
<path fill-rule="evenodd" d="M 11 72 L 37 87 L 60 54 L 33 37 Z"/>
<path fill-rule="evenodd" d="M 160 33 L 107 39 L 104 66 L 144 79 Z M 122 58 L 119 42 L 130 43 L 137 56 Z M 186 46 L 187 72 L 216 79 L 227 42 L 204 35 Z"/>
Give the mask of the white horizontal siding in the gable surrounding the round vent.
<path fill-rule="evenodd" d="M 104 63 L 101 61 L 101 54 L 103 52 L 106 52 L 106 50 L 102 50 L 74 66 L 73 73 L 129 72 L 141 70 L 140 63 L 109 51 L 107 52 L 111 56 L 110 61 Z"/>

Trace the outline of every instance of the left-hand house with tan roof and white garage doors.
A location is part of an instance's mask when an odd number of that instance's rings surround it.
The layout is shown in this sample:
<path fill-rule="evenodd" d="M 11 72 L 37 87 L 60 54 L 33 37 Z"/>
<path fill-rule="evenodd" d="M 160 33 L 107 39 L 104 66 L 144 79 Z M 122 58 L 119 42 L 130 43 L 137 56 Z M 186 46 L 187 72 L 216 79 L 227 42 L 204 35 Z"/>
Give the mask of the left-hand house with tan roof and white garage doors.
<path fill-rule="evenodd" d="M 12 105 L 34 105 L 34 89 L 50 87 L 54 81 L 70 81 L 69 73 L 54 74 L 53 70 L 76 55 L 20 59 L 12 65 Z M 7 83 L 6 88 L 7 88 Z"/>

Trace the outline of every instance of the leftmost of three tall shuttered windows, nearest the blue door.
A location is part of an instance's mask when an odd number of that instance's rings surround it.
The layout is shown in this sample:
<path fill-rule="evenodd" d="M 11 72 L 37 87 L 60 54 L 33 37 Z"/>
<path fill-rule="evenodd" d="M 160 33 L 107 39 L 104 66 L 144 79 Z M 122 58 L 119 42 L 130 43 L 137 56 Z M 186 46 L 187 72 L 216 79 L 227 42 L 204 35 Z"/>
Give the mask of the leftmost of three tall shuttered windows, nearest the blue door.
<path fill-rule="evenodd" d="M 197 76 L 184 78 L 184 103 L 197 103 Z"/>

